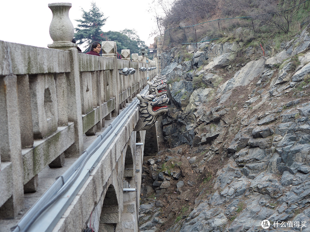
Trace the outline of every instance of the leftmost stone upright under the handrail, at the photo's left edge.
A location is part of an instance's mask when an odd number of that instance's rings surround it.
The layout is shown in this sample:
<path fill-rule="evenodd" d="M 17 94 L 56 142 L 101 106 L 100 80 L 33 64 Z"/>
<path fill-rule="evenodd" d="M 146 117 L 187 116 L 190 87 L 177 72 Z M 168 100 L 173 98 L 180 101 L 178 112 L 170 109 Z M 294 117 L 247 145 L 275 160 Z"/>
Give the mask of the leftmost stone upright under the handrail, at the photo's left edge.
<path fill-rule="evenodd" d="M 24 204 L 24 169 L 17 89 L 17 76 L 4 73 L 0 78 L 0 158 L 5 162 L 5 165 L 1 165 L 0 172 L 0 218 L 17 216 Z M 7 188 L 10 188 L 11 194 L 7 194 Z"/>

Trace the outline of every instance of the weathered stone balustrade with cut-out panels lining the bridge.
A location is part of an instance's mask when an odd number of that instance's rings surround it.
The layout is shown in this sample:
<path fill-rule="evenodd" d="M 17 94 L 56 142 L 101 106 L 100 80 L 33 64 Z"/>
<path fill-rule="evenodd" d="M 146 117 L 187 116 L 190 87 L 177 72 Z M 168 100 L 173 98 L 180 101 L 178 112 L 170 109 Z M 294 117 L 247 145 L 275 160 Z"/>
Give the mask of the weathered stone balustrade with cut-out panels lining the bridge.
<path fill-rule="evenodd" d="M 138 56 L 137 62 L 117 59 L 114 41 L 102 42 L 99 57 L 78 53 L 70 36 L 56 37 L 48 49 L 0 41 L 2 218 L 20 212 L 24 191 L 36 191 L 41 170 L 63 157 L 80 156 L 83 134 L 100 131 L 105 119 L 116 116 L 156 75 L 156 70 L 139 71 L 155 65 Z M 136 72 L 120 75 L 124 67 Z"/>

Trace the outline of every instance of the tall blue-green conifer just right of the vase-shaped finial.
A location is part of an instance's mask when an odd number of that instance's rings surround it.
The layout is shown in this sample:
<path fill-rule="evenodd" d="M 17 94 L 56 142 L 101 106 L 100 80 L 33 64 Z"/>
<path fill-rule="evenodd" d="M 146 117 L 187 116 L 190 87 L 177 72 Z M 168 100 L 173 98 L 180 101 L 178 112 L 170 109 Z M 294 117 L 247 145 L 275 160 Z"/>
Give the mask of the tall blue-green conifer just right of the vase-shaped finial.
<path fill-rule="evenodd" d="M 78 28 L 74 28 L 76 31 L 74 33 L 74 39 L 78 45 L 86 42 L 87 45 L 84 48 L 87 48 L 86 52 L 88 52 L 93 42 L 101 43 L 103 36 L 101 27 L 105 24 L 104 22 L 107 18 L 104 18 L 104 14 L 100 12 L 95 2 L 91 2 L 89 12 L 84 11 L 83 8 L 82 11 L 82 19 L 75 20 L 80 24 L 78 24 Z"/>

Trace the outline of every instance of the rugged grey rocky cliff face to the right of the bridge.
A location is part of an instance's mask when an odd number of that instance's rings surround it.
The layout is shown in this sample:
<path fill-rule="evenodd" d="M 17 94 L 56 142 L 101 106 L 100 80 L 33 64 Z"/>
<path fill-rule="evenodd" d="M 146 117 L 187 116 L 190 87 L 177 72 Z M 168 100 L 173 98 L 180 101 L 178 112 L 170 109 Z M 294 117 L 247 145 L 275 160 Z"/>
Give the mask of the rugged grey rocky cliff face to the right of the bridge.
<path fill-rule="evenodd" d="M 189 162 L 193 173 L 206 178 L 206 170 L 216 170 L 211 190 L 199 190 L 193 208 L 167 231 L 310 231 L 309 32 L 308 26 L 277 54 L 248 48 L 245 63 L 234 62 L 242 43 L 188 46 L 193 58 L 181 63 L 174 50 L 162 55 L 172 102 L 165 141 L 195 150 L 201 160 Z M 210 166 L 215 157 L 222 166 Z M 155 162 L 145 169 L 153 173 Z M 172 178 L 162 173 L 153 176 L 160 182 L 156 194 Z M 190 189 L 195 181 L 188 181 L 175 193 Z M 266 219 L 271 225 L 264 230 Z M 140 230 L 157 231 L 165 220 L 150 223 Z"/>

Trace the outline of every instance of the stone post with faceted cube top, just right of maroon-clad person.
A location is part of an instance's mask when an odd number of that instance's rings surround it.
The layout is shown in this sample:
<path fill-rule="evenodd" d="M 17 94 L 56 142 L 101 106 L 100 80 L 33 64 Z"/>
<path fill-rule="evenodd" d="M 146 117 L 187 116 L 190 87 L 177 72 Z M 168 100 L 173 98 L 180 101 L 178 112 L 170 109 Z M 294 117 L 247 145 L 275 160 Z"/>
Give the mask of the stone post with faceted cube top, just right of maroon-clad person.
<path fill-rule="evenodd" d="M 102 41 L 101 43 L 102 56 L 113 58 L 112 79 L 109 80 L 109 91 L 112 97 L 115 97 L 115 110 L 112 111 L 112 116 L 116 117 L 119 113 L 118 93 L 121 92 L 121 84 L 117 74 L 117 46 L 114 41 Z M 107 118 L 108 119 L 108 118 Z"/>

